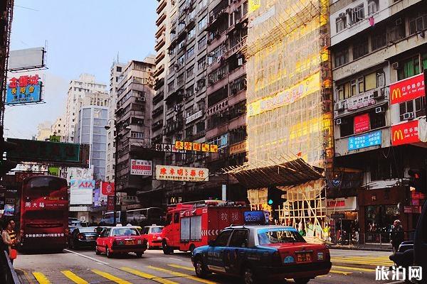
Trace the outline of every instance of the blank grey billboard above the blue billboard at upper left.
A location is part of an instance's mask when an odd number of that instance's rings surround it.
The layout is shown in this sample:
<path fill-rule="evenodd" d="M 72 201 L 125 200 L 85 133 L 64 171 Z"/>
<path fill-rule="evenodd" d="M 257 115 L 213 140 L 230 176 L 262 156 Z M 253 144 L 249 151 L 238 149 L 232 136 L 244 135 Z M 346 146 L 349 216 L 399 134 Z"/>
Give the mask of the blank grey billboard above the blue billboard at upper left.
<path fill-rule="evenodd" d="M 26 48 L 11 50 L 8 60 L 8 71 L 40 69 L 45 67 L 44 48 Z"/>

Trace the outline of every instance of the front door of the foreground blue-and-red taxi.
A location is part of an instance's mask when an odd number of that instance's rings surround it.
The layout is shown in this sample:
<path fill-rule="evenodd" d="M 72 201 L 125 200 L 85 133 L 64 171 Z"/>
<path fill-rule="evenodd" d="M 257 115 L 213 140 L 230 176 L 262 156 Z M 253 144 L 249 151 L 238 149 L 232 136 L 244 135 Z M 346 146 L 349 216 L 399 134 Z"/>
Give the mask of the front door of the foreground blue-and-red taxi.
<path fill-rule="evenodd" d="M 214 241 L 212 246 L 209 246 L 207 251 L 206 266 L 209 271 L 216 273 L 225 273 L 226 268 L 224 267 L 224 251 L 227 248 L 228 241 L 233 230 L 221 231 L 219 236 Z"/>

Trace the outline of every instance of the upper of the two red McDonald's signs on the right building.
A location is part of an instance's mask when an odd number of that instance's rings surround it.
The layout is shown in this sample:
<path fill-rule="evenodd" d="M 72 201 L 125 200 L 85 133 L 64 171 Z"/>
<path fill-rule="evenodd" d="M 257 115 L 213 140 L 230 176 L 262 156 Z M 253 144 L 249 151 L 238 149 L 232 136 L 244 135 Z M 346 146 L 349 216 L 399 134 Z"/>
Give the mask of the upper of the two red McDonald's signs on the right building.
<path fill-rule="evenodd" d="M 425 96 L 424 74 L 390 84 L 391 104 L 400 104 L 411 99 Z"/>

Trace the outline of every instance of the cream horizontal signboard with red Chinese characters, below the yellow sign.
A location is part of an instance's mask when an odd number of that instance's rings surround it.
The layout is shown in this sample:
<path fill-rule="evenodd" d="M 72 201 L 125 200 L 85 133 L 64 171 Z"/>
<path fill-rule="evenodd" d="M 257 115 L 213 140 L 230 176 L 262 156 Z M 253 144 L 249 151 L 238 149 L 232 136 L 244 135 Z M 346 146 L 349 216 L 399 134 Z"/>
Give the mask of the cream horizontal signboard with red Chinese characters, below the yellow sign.
<path fill-rule="evenodd" d="M 207 168 L 156 165 L 156 179 L 181 182 L 207 182 L 209 181 L 209 170 Z"/>

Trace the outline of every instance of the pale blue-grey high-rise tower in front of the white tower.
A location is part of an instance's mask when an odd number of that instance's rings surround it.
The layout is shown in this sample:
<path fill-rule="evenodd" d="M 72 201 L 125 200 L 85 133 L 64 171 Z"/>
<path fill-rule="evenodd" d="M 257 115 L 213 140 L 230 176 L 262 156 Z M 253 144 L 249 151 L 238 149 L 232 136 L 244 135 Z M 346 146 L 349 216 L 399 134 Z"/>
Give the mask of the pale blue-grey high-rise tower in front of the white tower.
<path fill-rule="evenodd" d="M 95 180 L 105 180 L 108 120 L 107 92 L 89 92 L 76 102 L 78 111 L 74 143 L 89 144 L 89 165 Z"/>

